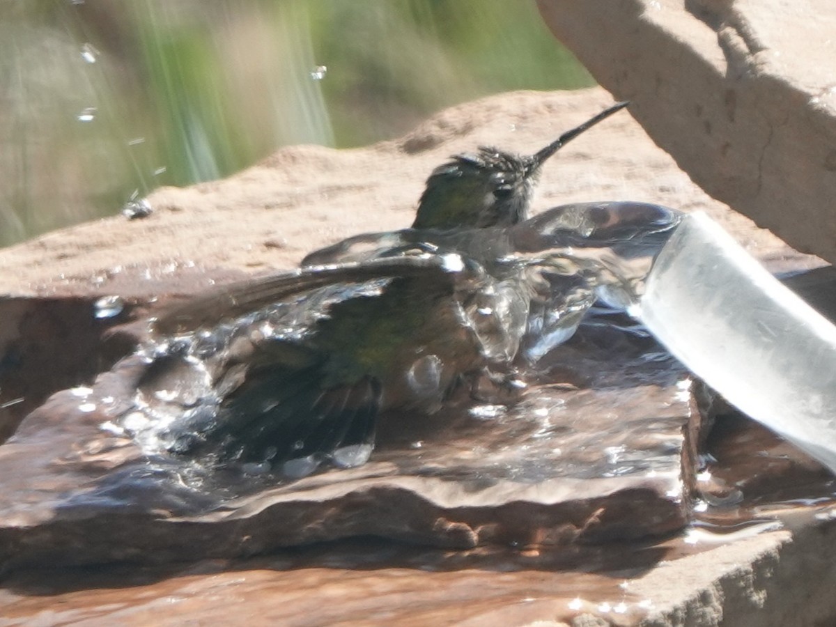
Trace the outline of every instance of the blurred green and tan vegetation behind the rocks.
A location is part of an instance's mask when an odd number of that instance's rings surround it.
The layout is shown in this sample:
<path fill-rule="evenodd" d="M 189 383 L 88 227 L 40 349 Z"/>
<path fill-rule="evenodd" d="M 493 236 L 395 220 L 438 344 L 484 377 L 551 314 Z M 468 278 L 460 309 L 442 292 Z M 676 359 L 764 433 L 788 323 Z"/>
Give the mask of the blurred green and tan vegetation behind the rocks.
<path fill-rule="evenodd" d="M 528 0 L 5 0 L 0 46 L 0 245 L 281 145 L 593 84 Z"/>

